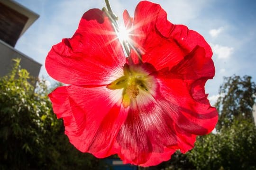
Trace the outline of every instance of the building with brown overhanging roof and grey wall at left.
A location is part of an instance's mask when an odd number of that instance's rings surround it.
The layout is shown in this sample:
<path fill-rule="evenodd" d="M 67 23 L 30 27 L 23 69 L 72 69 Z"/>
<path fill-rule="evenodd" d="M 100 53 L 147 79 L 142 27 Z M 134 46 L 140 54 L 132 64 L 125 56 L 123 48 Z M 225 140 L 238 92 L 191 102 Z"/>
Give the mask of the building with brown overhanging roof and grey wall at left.
<path fill-rule="evenodd" d="M 38 76 L 42 65 L 14 48 L 18 38 L 38 17 L 13 0 L 0 0 L 0 76 L 10 72 L 12 59 L 17 58 L 21 59 L 21 68 L 27 69 L 31 76 Z"/>

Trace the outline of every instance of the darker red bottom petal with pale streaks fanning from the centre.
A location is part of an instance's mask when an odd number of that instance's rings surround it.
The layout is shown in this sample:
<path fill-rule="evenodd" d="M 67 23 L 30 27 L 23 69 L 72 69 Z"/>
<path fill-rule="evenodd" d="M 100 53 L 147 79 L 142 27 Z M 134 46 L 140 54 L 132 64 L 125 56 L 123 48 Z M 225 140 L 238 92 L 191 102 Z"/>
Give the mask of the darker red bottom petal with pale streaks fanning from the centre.
<path fill-rule="evenodd" d="M 167 161 L 178 148 L 172 118 L 154 101 L 129 110 L 117 143 L 124 163 L 140 166 Z"/>

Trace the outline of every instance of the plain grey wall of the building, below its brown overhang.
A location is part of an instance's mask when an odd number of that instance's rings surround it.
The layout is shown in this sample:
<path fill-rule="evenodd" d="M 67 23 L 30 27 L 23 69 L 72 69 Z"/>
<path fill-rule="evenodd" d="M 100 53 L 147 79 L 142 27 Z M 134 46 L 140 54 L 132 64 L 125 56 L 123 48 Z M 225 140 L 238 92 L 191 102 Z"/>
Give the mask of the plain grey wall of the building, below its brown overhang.
<path fill-rule="evenodd" d="M 21 68 L 27 69 L 31 76 L 38 77 L 42 64 L 0 40 L 0 76 L 5 76 L 10 72 L 14 63 L 12 59 L 17 58 L 21 59 Z"/>

